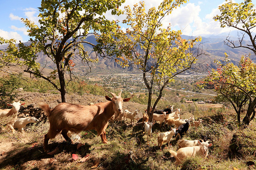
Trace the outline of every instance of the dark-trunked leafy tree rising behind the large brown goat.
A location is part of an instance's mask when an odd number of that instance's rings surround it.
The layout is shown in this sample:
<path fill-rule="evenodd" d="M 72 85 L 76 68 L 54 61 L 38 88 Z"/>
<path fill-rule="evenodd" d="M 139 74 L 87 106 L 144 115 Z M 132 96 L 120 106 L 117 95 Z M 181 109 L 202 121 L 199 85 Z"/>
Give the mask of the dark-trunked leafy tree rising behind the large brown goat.
<path fill-rule="evenodd" d="M 42 0 L 39 8 L 40 25 L 22 19 L 32 37 L 30 44 L 20 42 L 18 50 L 13 48 L 12 55 L 25 60 L 25 72 L 51 82 L 61 92 L 61 101 L 65 102 L 65 74 L 68 71 L 70 78 L 72 77 L 71 70 L 75 65 L 73 57 L 81 57 L 85 64 L 97 61 L 88 55 L 83 43 L 94 48 L 95 45 L 86 41 L 88 35 L 116 29 L 115 21 L 107 20 L 103 14 L 110 10 L 113 15 L 120 15 L 118 8 L 123 2 L 124 0 Z M 56 70 L 50 76 L 43 75 L 39 70 L 36 63 L 39 52 L 43 52 L 56 64 Z M 56 76 L 59 78 L 59 85 L 54 81 Z"/>

